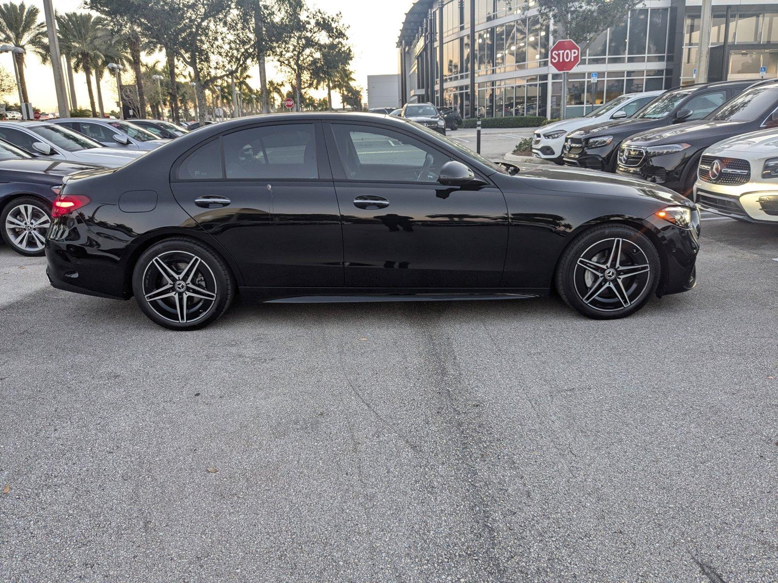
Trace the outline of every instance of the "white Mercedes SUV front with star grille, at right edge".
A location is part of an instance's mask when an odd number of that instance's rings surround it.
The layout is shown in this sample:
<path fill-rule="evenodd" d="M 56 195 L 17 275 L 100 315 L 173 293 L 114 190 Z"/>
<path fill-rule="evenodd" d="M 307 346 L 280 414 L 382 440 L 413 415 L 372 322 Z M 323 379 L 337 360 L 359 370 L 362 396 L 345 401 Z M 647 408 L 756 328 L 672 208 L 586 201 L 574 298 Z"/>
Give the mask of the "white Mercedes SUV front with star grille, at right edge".
<path fill-rule="evenodd" d="M 743 134 L 706 149 L 694 201 L 718 215 L 778 224 L 778 129 Z"/>

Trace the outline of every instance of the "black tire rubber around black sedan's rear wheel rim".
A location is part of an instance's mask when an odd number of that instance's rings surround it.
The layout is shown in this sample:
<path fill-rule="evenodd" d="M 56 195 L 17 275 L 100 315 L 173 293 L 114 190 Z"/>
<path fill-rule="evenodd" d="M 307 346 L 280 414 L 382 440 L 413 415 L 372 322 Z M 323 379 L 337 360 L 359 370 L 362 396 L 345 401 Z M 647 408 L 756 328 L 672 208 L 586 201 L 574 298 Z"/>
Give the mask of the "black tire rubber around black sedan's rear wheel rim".
<path fill-rule="evenodd" d="M 149 302 L 145 300 L 142 281 L 145 268 L 154 257 L 166 251 L 193 253 L 200 257 L 200 260 L 204 261 L 213 272 L 216 280 L 216 302 L 212 305 L 210 312 L 195 323 L 176 323 L 165 319 L 159 316 L 149 305 Z M 219 318 L 230 307 L 230 303 L 235 295 L 235 282 L 226 262 L 209 246 L 199 243 L 195 239 L 165 239 L 150 246 L 149 249 L 145 250 L 138 257 L 138 261 L 135 262 L 135 268 L 132 271 L 132 293 L 135 295 L 135 301 L 138 302 L 142 312 L 149 316 L 152 322 L 159 324 L 159 326 L 169 328 L 170 330 L 198 330 L 198 328 L 208 326 L 209 323 Z"/>

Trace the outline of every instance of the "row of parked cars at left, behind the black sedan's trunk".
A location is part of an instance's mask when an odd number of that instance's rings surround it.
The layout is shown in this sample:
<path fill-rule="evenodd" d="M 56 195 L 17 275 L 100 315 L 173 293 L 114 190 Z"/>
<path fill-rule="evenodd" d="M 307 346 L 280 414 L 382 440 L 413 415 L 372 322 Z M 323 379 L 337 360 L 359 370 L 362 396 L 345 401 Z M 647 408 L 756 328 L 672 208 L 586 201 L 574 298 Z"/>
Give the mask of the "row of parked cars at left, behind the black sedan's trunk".
<path fill-rule="evenodd" d="M 72 117 L 0 122 L 0 225 L 16 253 L 44 253 L 51 203 L 63 178 L 118 168 L 187 133 L 163 120 Z"/>

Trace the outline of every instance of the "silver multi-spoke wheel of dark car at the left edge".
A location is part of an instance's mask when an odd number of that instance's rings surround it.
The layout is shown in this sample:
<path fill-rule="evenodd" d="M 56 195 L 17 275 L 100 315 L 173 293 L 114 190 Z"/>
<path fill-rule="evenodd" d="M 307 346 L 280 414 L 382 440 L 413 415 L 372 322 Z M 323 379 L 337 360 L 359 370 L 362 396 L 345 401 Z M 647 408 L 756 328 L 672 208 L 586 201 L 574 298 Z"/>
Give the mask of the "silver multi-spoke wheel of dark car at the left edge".
<path fill-rule="evenodd" d="M 48 205 L 40 198 L 14 198 L 0 213 L 0 228 L 5 244 L 19 255 L 43 255 L 46 232 L 51 225 L 50 212 Z"/>

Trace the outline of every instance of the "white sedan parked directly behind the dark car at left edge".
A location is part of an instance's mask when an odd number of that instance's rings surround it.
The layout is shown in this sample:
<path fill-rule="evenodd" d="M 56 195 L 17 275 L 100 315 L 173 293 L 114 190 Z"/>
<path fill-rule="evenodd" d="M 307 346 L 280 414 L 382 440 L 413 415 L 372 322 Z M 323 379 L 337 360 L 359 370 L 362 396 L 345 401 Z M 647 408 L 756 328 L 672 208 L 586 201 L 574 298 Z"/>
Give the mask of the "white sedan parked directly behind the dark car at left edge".
<path fill-rule="evenodd" d="M 0 122 L 0 138 L 39 158 L 117 168 L 142 156 L 138 150 L 107 148 L 76 131 L 40 121 Z"/>

